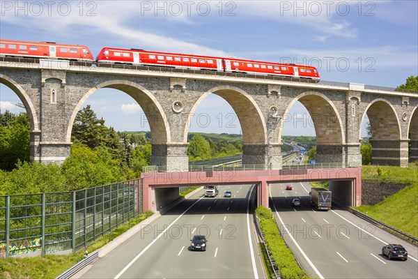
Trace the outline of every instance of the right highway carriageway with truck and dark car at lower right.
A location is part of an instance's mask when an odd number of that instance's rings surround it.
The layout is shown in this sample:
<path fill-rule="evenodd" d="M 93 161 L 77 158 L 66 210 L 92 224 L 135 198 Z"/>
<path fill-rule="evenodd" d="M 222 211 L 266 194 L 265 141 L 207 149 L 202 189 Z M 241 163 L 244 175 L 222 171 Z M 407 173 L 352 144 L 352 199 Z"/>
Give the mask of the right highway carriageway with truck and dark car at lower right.
<path fill-rule="evenodd" d="M 286 185 L 293 190 L 285 190 Z M 309 183 L 272 184 L 270 202 L 289 248 L 312 278 L 418 278 L 418 248 L 332 205 L 331 211 L 314 211 Z M 302 206 L 291 201 L 302 199 Z M 394 212 L 396 214 L 396 212 Z M 285 228 L 286 227 L 286 228 Z M 287 229 L 287 230 L 286 230 Z M 408 260 L 381 255 L 386 243 L 400 243 Z"/>

